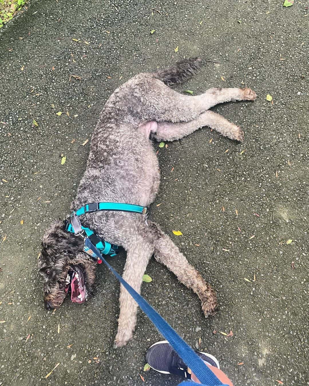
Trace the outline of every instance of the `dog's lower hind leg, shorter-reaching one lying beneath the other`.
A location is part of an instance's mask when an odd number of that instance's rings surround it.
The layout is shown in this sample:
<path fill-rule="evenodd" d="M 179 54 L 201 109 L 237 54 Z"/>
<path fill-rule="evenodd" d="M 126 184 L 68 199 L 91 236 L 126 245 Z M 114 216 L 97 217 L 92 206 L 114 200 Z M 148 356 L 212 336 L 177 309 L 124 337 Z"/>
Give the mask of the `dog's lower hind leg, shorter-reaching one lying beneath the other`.
<path fill-rule="evenodd" d="M 240 127 L 212 111 L 205 111 L 200 114 L 199 117 L 189 122 L 158 122 L 153 137 L 158 141 L 174 141 L 176 139 L 181 139 L 204 126 L 209 126 L 211 129 L 216 130 L 230 139 L 243 141 L 244 132 Z"/>

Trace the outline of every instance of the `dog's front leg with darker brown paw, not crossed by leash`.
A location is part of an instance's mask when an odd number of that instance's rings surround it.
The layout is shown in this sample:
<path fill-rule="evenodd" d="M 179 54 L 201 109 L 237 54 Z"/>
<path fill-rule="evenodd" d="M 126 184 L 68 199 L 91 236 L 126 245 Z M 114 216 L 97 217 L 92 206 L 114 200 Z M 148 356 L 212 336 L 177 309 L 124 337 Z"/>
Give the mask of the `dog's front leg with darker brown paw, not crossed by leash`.
<path fill-rule="evenodd" d="M 192 289 L 202 302 L 205 317 L 215 315 L 217 296 L 210 286 L 200 276 L 199 272 L 188 263 L 171 239 L 154 222 L 149 222 L 149 229 L 155 235 L 155 259 L 170 269 L 185 286 Z"/>

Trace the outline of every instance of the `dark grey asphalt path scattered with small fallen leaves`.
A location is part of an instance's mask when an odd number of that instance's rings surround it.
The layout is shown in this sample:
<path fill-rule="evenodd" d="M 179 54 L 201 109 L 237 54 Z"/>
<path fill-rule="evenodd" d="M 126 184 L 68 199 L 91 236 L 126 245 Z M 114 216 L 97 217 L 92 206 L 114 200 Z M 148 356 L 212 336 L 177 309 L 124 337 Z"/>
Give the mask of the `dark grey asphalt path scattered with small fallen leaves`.
<path fill-rule="evenodd" d="M 68 213 L 83 143 L 110 93 L 195 55 L 220 63 L 178 90 L 247 85 L 258 98 L 214 109 L 245 130 L 242 144 L 207 128 L 155 143 L 162 180 L 151 218 L 215 286 L 220 310 L 205 319 L 197 297 L 154 260 L 142 293 L 189 344 L 201 338 L 234 385 L 309 384 L 309 3 L 282 2 L 32 1 L 2 28 L 0 385 L 180 381 L 143 372 L 161 336 L 141 311 L 134 340 L 112 349 L 119 284 L 105 267 L 87 304 L 66 300 L 53 313 L 36 265 L 44 229 Z M 122 272 L 124 254 L 111 261 Z"/>

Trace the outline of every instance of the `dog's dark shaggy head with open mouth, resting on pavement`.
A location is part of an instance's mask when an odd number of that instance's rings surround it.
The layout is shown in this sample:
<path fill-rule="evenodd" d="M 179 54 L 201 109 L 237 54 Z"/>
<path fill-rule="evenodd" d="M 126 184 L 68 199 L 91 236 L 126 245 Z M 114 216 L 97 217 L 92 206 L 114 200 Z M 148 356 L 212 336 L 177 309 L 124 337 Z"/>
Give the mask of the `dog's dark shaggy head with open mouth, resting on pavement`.
<path fill-rule="evenodd" d="M 55 220 L 43 236 L 39 257 L 45 307 L 59 307 L 69 291 L 73 303 L 84 303 L 92 292 L 95 266 L 83 252 L 83 239 L 67 232 L 63 220 Z"/>

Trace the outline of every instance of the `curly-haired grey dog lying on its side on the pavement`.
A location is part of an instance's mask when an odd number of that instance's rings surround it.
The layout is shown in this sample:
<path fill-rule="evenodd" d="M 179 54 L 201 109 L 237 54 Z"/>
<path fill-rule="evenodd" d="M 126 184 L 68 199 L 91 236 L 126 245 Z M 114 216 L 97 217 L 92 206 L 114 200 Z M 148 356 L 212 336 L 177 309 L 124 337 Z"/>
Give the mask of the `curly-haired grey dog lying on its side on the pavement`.
<path fill-rule="evenodd" d="M 114 91 L 92 135 L 87 169 L 71 204 L 72 211 L 91 202 L 149 206 L 160 183 L 150 134 L 158 141 L 173 141 L 209 126 L 231 139 L 243 140 L 244 133 L 238 126 L 209 108 L 231 100 L 254 100 L 254 91 L 211 88 L 192 97 L 168 87 L 193 76 L 200 63 L 199 58 L 184 59 L 156 73 L 138 74 Z M 81 223 L 127 251 L 123 277 L 136 291 L 141 289 L 144 271 L 154 254 L 199 296 L 205 316 L 214 314 L 214 290 L 156 223 L 147 225 L 145 217 L 138 213 L 115 211 L 86 213 L 81 216 Z M 83 252 L 83 239 L 66 232 L 63 220 L 54 221 L 44 234 L 39 259 L 39 271 L 45 278 L 46 308 L 61 305 L 69 287 L 71 300 L 83 303 L 92 291 L 95 269 L 96 263 Z M 132 338 L 136 311 L 137 304 L 121 286 L 115 347 Z"/>

